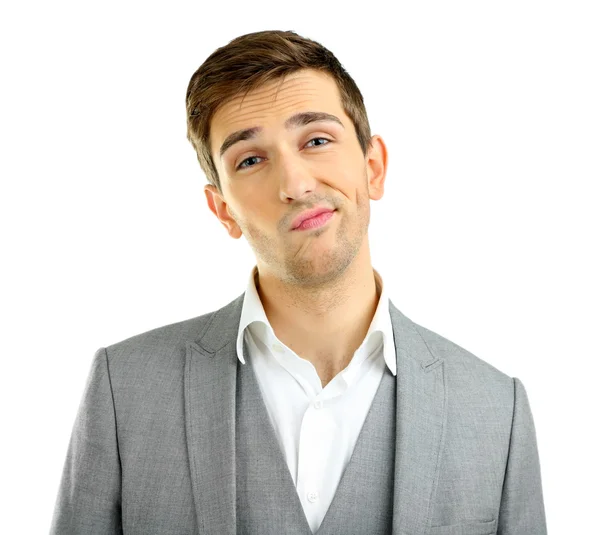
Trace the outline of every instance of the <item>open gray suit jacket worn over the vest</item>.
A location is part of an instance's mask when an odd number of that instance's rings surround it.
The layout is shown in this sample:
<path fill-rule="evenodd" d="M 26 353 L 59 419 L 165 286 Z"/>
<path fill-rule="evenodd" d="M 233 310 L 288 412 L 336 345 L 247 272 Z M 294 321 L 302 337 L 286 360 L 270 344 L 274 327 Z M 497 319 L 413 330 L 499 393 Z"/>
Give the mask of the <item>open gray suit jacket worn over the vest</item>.
<path fill-rule="evenodd" d="M 243 297 L 96 352 L 51 534 L 236 534 L 235 341 Z M 390 314 L 393 534 L 546 534 L 521 381 L 391 302 Z"/>

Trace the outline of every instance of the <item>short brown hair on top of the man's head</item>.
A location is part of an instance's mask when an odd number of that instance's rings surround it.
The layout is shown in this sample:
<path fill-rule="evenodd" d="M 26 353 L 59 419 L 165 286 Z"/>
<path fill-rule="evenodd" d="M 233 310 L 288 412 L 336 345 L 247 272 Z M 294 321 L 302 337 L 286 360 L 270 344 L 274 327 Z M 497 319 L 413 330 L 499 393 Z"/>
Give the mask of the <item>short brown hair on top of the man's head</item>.
<path fill-rule="evenodd" d="M 269 30 L 236 37 L 215 50 L 192 75 L 185 105 L 187 138 L 196 150 L 208 181 L 222 194 L 210 152 L 210 121 L 217 108 L 245 91 L 283 78 L 300 69 L 326 72 L 334 79 L 344 111 L 352 120 L 364 155 L 371 129 L 358 86 L 337 58 L 316 41 L 293 31 Z"/>

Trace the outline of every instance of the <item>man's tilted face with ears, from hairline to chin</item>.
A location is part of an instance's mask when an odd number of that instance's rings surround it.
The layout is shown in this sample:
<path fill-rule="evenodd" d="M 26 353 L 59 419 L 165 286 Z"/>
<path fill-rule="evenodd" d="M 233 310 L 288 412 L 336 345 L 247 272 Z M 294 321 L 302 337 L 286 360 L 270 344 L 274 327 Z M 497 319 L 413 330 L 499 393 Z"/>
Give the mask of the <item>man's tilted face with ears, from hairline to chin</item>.
<path fill-rule="evenodd" d="M 307 112 L 333 117 L 286 124 Z M 250 128 L 257 130 L 230 143 Z M 261 273 L 318 287 L 367 250 L 369 199 L 383 195 L 385 145 L 374 136 L 375 148 L 363 155 L 331 77 L 302 70 L 261 86 L 219 108 L 210 132 L 223 195 L 207 185 L 209 208 L 230 236 L 246 237 Z M 323 226 L 292 230 L 301 212 L 321 206 L 335 210 Z"/>

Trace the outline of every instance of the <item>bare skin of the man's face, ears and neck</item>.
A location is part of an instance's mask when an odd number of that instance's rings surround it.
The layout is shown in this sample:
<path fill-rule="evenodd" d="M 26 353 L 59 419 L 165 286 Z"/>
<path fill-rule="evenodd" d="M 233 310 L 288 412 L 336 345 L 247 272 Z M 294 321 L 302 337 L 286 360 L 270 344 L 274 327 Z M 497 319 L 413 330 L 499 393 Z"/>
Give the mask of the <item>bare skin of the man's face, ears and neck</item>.
<path fill-rule="evenodd" d="M 287 130 L 285 120 L 302 111 L 333 114 L 343 127 Z M 263 131 L 220 156 L 227 136 L 255 126 Z M 247 239 L 275 335 L 314 365 L 324 386 L 362 344 L 379 302 L 367 231 L 369 201 L 383 196 L 383 139 L 373 136 L 363 155 L 333 78 L 310 69 L 226 102 L 210 132 L 223 193 L 205 186 L 208 207 L 232 238 Z M 325 226 L 290 230 L 298 214 L 322 205 L 336 209 Z"/>

